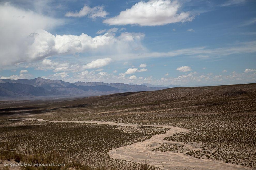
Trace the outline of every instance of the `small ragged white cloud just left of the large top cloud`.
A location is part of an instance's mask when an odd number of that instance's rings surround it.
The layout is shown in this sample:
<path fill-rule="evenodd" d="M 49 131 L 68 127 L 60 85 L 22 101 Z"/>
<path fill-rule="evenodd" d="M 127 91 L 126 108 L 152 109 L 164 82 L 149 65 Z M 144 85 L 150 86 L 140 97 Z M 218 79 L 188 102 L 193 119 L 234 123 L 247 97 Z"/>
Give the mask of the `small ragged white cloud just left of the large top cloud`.
<path fill-rule="evenodd" d="M 97 18 L 97 17 L 106 17 L 106 15 L 108 15 L 108 13 L 106 11 L 104 11 L 103 6 L 95 6 L 93 8 L 90 8 L 87 5 L 84 5 L 83 8 L 78 12 L 67 12 L 66 13 L 66 17 L 84 17 L 84 16 L 88 16 L 90 18 Z"/>

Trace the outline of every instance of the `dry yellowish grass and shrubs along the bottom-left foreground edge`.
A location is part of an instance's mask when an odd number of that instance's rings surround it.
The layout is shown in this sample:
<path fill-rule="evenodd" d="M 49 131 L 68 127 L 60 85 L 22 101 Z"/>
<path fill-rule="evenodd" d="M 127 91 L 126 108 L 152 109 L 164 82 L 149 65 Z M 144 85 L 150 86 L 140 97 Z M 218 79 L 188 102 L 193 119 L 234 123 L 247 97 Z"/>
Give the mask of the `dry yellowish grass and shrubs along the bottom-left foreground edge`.
<path fill-rule="evenodd" d="M 12 162 L 11 162 L 12 161 Z M 13 162 L 15 161 L 15 162 Z M 34 149 L 33 151 L 25 150 L 24 152 L 18 152 L 11 150 L 11 145 L 8 142 L 2 142 L 0 146 L 0 164 L 23 163 L 25 165 L 33 163 L 35 166 L 21 166 L 23 170 L 106 170 L 104 166 L 91 168 L 81 160 L 68 159 L 64 152 L 58 152 L 51 150 L 44 153 L 43 149 Z M 9 163 L 10 164 L 10 163 Z M 41 166 L 36 164 L 50 164 L 50 166 Z M 54 166 L 51 166 L 53 164 Z M 2 167 L 3 170 L 8 170 L 9 167 Z M 114 168 L 108 168 L 110 170 L 116 170 Z M 145 163 L 141 164 L 138 170 L 156 170 L 156 167 L 150 166 Z"/>

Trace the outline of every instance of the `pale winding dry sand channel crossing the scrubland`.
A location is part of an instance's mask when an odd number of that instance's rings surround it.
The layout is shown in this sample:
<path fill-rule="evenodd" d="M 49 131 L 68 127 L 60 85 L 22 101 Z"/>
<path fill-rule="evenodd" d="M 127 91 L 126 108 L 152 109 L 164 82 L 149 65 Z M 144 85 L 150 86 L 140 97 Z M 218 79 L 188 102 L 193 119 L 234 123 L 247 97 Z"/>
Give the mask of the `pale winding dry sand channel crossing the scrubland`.
<path fill-rule="evenodd" d="M 50 121 L 43 119 L 12 119 L 12 120 L 24 120 L 24 121 L 47 121 L 55 123 L 97 123 L 105 125 L 116 125 L 116 126 L 141 126 L 138 124 L 127 124 L 127 123 L 115 123 L 115 122 L 104 122 L 104 121 Z M 172 142 L 164 140 L 165 137 L 169 137 L 174 133 L 189 132 L 189 130 L 173 126 L 161 126 L 161 125 L 143 125 L 151 127 L 162 127 L 168 128 L 165 134 L 154 135 L 150 139 L 143 142 L 133 143 L 131 145 L 119 147 L 110 150 L 109 156 L 115 159 L 123 159 L 127 161 L 142 163 L 147 159 L 148 164 L 158 166 L 161 169 L 198 169 L 198 170 L 235 170 L 235 169 L 252 169 L 246 168 L 239 165 L 227 164 L 221 161 L 214 161 L 211 159 L 197 159 L 191 156 L 187 156 L 181 153 L 167 152 L 156 152 L 152 151 L 154 148 L 158 148 L 160 144 L 173 144 L 179 143 L 184 145 L 184 148 L 195 149 L 191 145 L 187 145 L 181 142 Z"/>

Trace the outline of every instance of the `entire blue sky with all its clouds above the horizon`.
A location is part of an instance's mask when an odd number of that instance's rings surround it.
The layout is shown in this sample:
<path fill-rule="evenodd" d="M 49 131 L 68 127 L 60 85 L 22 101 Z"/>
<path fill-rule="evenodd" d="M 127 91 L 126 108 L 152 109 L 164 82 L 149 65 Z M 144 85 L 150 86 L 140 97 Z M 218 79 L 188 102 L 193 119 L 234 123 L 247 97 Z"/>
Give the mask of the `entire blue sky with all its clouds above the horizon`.
<path fill-rule="evenodd" d="M 255 0 L 0 0 L 0 78 L 256 82 Z"/>

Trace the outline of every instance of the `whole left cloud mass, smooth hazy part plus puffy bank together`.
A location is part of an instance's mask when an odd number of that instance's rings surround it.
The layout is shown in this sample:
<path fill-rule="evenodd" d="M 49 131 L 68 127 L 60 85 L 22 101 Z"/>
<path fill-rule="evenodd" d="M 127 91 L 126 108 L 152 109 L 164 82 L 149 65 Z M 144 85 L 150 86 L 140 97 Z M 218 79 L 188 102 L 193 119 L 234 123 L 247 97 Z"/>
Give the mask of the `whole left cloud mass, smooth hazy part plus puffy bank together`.
<path fill-rule="evenodd" d="M 141 40 L 145 36 L 143 33 L 128 32 L 115 36 L 113 32 L 118 28 L 111 28 L 108 33 L 95 37 L 84 33 L 53 35 L 49 31 L 63 24 L 63 20 L 23 10 L 9 3 L 0 4 L 0 15 L 0 23 L 4 25 L 0 27 L 1 66 L 31 63 L 55 55 L 130 53 L 142 46 Z"/>

